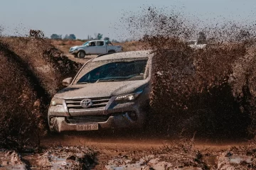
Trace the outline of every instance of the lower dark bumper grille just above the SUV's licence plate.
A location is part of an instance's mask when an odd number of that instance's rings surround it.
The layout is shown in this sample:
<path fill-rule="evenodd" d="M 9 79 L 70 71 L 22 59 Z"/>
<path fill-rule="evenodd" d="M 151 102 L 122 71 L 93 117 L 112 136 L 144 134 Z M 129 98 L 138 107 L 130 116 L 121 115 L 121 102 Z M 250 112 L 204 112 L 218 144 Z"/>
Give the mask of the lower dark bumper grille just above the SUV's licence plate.
<path fill-rule="evenodd" d="M 75 116 L 66 117 L 67 123 L 99 123 L 105 122 L 110 118 L 110 115 L 85 115 L 85 116 Z"/>

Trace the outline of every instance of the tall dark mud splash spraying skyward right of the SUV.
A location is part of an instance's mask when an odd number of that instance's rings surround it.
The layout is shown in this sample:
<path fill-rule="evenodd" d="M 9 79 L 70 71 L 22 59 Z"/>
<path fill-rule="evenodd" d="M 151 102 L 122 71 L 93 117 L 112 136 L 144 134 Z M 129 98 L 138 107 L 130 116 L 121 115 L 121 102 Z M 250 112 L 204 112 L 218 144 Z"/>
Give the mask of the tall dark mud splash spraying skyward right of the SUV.
<path fill-rule="evenodd" d="M 196 28 L 198 21 L 182 12 L 156 7 L 131 13 L 122 23 L 155 53 L 151 126 L 157 132 L 220 138 L 255 133 L 253 23 Z M 188 46 L 195 35 L 206 47 Z"/>

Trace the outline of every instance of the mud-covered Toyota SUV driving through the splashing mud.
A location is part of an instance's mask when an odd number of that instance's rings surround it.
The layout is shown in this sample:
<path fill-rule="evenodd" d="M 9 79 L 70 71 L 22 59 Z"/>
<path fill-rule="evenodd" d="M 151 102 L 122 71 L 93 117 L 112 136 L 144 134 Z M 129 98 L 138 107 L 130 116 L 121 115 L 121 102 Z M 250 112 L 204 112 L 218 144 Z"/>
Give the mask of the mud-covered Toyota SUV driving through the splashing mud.
<path fill-rule="evenodd" d="M 85 63 L 48 109 L 50 130 L 141 128 L 149 108 L 150 51 L 120 52 Z"/>

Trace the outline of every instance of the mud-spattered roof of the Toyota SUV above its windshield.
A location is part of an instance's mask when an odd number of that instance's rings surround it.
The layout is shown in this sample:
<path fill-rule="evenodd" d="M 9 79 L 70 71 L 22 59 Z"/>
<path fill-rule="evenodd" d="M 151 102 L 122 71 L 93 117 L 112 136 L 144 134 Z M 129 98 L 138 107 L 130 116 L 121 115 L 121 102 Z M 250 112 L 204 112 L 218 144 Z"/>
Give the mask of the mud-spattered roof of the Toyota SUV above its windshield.
<path fill-rule="evenodd" d="M 109 55 L 102 55 L 99 56 L 93 61 L 101 61 L 101 60 L 115 60 L 115 59 L 127 59 L 127 58 L 146 58 L 150 57 L 153 54 L 151 54 L 151 50 L 144 50 L 144 51 L 132 51 L 132 52 L 117 52 L 112 53 Z"/>

